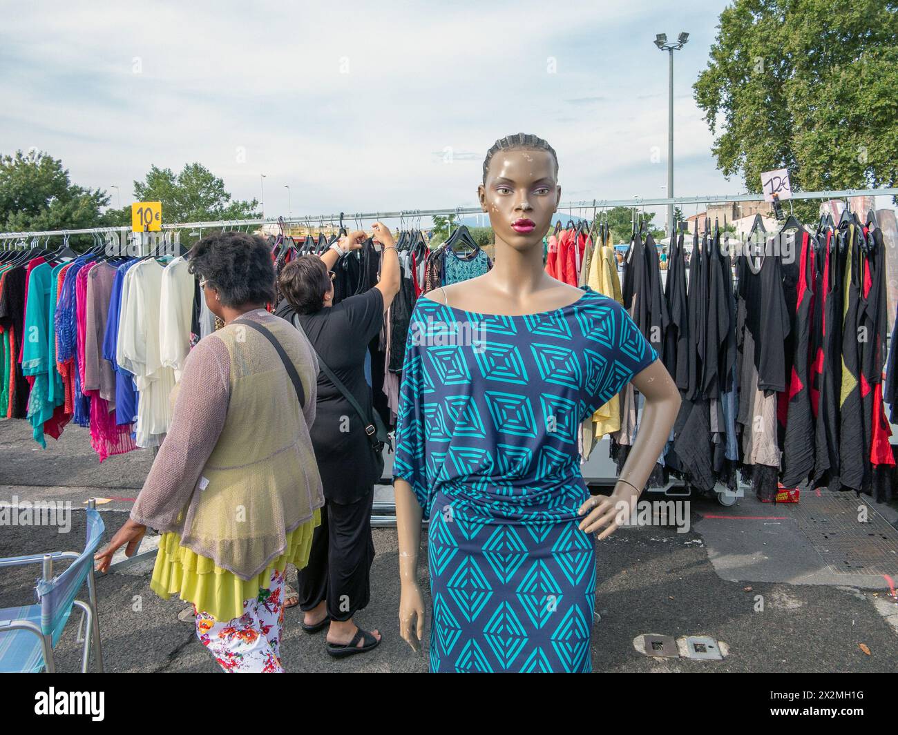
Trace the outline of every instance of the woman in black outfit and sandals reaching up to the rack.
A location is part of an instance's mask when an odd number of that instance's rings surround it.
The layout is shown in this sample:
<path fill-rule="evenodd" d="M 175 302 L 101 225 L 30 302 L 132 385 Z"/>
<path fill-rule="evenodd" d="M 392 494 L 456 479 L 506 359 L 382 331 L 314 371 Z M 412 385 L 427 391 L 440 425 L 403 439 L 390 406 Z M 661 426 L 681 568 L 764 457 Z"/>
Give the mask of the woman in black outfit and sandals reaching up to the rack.
<path fill-rule="evenodd" d="M 339 258 L 360 249 L 366 237 L 365 232 L 352 232 L 321 257 L 304 255 L 288 263 L 277 281 L 284 301 L 276 313 L 303 329 L 319 359 L 370 412 L 372 389 L 365 381 L 365 354 L 400 286 L 399 257 L 385 225 L 374 223 L 374 239 L 383 245 L 377 284 L 336 305 L 332 284 Z M 374 483 L 380 478 L 374 477 L 373 451 L 361 418 L 323 370 L 318 374 L 311 435 L 325 506 L 309 564 L 297 573 L 303 628 L 316 633 L 330 626 L 328 652 L 333 655 L 369 651 L 380 643 L 381 634 L 360 629 L 352 618 L 367 606 L 370 595 L 371 509 Z"/>

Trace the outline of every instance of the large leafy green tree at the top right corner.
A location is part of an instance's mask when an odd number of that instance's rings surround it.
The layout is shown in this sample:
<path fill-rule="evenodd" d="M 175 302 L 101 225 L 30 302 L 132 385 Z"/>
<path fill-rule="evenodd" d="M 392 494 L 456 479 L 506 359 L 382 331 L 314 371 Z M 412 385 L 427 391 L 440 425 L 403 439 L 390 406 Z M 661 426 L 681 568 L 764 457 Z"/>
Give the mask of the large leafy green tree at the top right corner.
<path fill-rule="evenodd" d="M 693 85 L 727 178 L 761 192 L 786 168 L 795 190 L 892 187 L 898 179 L 898 4 L 735 0 Z M 799 218 L 815 203 L 795 202 Z"/>

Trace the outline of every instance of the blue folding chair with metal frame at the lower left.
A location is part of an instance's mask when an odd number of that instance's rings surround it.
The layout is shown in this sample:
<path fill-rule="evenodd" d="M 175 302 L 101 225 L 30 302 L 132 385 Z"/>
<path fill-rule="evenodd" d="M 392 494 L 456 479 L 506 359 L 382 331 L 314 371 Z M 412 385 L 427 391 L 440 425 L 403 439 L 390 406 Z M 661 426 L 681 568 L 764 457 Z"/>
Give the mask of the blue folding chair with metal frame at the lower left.
<path fill-rule="evenodd" d="M 93 578 L 93 555 L 100 546 L 106 527 L 91 499 L 87 508 L 87 543 L 80 554 L 57 551 L 52 554 L 0 558 L 0 568 L 22 564 L 43 564 L 43 574 L 35 591 L 38 605 L 0 608 L 0 673 L 33 673 L 56 670 L 53 649 L 73 608 L 81 608 L 79 634 L 84 632 L 81 670 L 86 673 L 91 660 L 91 637 L 96 647 L 97 666 L 103 670 L 100 645 L 100 621 L 97 617 L 97 591 Z M 74 559 L 65 572 L 53 576 L 54 559 Z M 88 602 L 75 599 L 87 581 Z M 89 633 L 90 632 L 90 633 Z"/>

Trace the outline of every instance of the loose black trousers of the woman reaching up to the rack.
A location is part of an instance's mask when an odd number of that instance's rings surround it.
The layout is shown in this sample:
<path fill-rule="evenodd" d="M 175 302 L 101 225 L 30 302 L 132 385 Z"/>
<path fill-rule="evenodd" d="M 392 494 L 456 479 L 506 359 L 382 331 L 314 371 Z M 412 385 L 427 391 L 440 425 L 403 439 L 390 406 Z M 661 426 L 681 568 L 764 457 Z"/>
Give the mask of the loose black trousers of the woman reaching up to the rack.
<path fill-rule="evenodd" d="M 371 508 L 374 487 L 355 503 L 326 500 L 312 537 L 309 564 L 297 571 L 299 607 L 311 610 L 327 599 L 328 617 L 346 621 L 371 598 Z"/>

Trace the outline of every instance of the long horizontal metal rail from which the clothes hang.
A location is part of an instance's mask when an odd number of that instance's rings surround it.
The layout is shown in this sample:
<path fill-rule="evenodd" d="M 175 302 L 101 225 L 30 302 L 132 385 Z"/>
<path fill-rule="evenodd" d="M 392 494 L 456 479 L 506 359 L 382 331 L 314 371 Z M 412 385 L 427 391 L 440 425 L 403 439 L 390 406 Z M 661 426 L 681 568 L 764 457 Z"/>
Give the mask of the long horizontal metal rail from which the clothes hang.
<path fill-rule="evenodd" d="M 609 209 L 612 206 L 667 206 L 667 205 L 701 205 L 719 204 L 726 202 L 753 202 L 758 201 L 762 194 L 716 194 L 703 197 L 632 197 L 629 199 L 585 199 L 581 201 L 563 202 L 559 204 L 560 210 L 574 209 Z M 792 193 L 793 199 L 843 199 L 846 197 L 898 197 L 898 188 L 847 188 L 832 191 L 797 191 Z M 314 225 L 321 222 L 334 222 L 345 220 L 352 223 L 354 220 L 387 220 L 406 219 L 409 217 L 434 217 L 455 214 L 482 214 L 480 206 L 457 206 L 444 209 L 406 209 L 398 212 L 364 212 L 338 214 L 308 214 L 291 215 L 289 217 L 266 217 L 263 219 L 249 220 L 210 220 L 208 222 L 169 223 L 163 224 L 165 230 L 208 230 L 216 228 L 241 228 L 262 226 L 266 224 L 302 224 Z M 29 238 L 42 238 L 66 235 L 89 235 L 104 232 L 131 232 L 127 225 L 119 227 L 88 227 L 79 230 L 43 230 L 33 232 L 0 232 L 0 241 L 25 241 Z M 27 243 L 26 243 L 27 244 Z M 37 244 L 37 243 L 34 243 Z"/>

